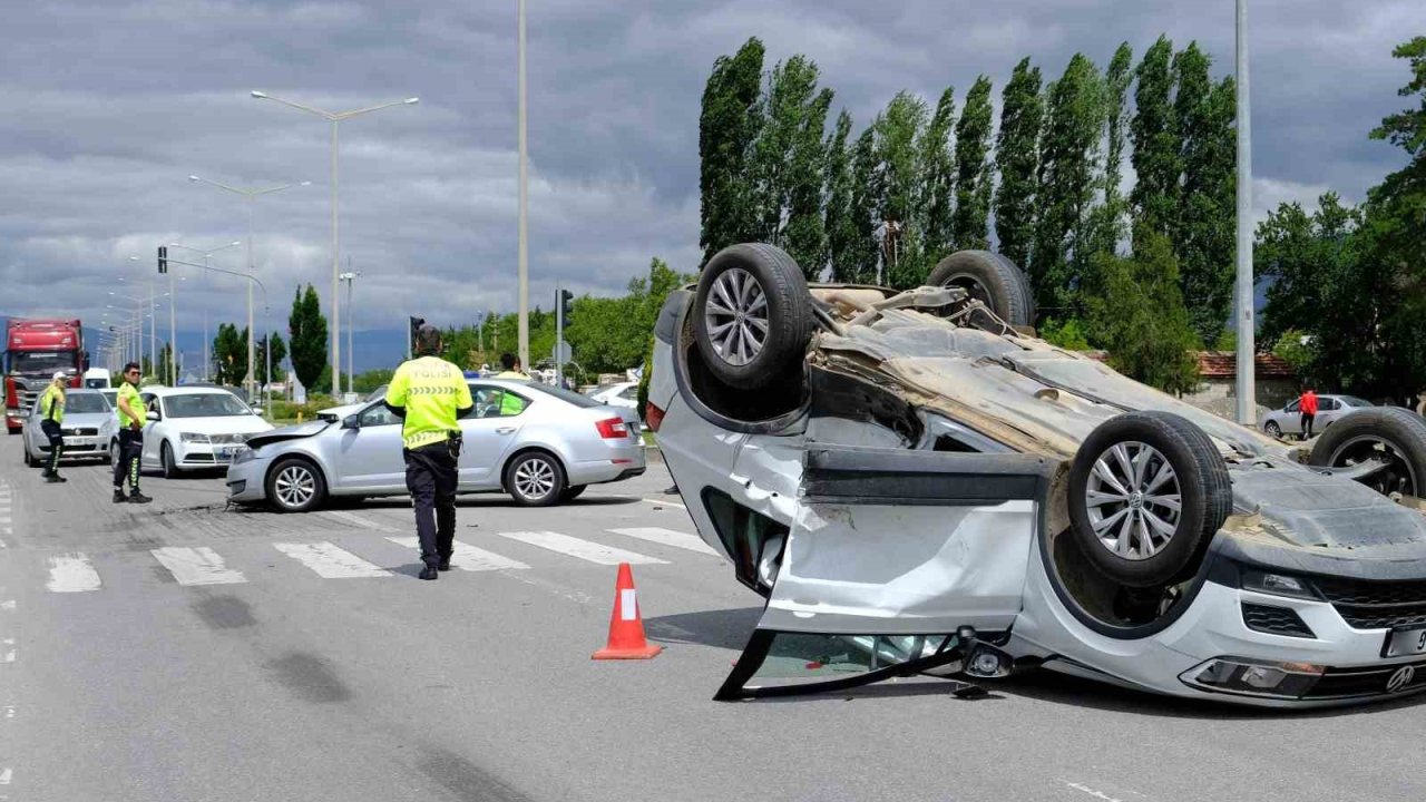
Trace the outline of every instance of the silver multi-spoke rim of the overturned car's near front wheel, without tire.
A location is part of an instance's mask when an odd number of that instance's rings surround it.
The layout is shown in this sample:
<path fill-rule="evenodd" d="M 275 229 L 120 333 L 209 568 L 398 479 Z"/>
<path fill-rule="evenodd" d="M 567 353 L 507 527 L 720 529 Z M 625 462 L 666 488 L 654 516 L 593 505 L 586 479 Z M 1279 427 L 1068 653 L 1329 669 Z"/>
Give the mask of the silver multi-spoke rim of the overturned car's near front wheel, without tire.
<path fill-rule="evenodd" d="M 1154 557 L 1174 538 L 1182 495 L 1174 465 L 1147 442 L 1117 442 L 1094 462 L 1085 507 L 1095 538 L 1124 559 Z"/>

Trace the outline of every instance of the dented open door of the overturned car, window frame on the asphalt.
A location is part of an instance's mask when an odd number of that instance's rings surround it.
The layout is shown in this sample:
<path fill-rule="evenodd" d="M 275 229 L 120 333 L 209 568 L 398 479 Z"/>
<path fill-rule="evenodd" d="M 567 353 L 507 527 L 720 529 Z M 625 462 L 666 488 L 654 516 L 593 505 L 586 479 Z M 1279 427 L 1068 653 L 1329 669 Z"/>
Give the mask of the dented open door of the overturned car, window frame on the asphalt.
<path fill-rule="evenodd" d="M 799 462 L 800 478 L 790 471 Z M 766 511 L 780 508 L 791 521 L 704 491 L 734 571 L 767 597 L 716 698 L 927 669 L 954 656 L 963 626 L 1008 631 L 1022 606 L 1052 469 L 1022 454 L 750 437 L 733 478 L 756 494 L 742 498 L 766 494 Z M 800 501 L 777 501 L 789 494 Z"/>

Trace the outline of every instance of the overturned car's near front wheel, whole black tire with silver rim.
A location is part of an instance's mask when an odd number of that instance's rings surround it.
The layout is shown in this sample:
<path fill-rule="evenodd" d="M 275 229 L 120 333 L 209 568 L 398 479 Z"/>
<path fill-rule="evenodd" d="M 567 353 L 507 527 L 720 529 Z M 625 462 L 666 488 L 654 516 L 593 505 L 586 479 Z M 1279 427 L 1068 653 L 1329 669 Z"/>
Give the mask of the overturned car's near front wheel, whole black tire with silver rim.
<path fill-rule="evenodd" d="M 1114 450 L 1122 450 L 1119 454 L 1127 460 L 1117 458 Z M 1119 485 L 1108 484 L 1095 469 L 1105 457 L 1104 469 Z M 1171 472 L 1168 478 L 1162 478 L 1164 469 Z M 1154 484 L 1161 479 L 1164 484 Z M 1178 494 L 1169 492 L 1175 488 L 1168 482 L 1176 484 Z M 1117 415 L 1089 432 L 1070 468 L 1068 492 L 1070 529 L 1084 555 L 1105 577 L 1132 588 L 1192 577 L 1214 534 L 1233 511 L 1228 467 L 1218 447 L 1186 418 L 1159 411 Z M 1097 494 L 1094 505 L 1091 492 Z M 1176 512 L 1164 504 L 1174 495 L 1178 495 Z M 1155 542 L 1155 532 L 1162 542 Z M 1112 545 L 1105 542 L 1109 538 L 1115 541 Z"/>

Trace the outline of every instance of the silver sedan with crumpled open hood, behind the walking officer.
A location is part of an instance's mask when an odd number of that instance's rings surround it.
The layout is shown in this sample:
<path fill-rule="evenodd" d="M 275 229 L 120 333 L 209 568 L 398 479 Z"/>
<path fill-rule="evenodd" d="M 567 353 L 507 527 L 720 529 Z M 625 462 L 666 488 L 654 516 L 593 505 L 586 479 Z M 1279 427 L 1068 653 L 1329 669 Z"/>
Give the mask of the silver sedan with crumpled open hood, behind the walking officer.
<path fill-rule="evenodd" d="M 475 408 L 461 421 L 459 492 L 508 492 L 516 504 L 545 507 L 643 474 L 639 424 L 623 411 L 546 384 L 469 384 Z M 228 468 L 234 502 L 307 512 L 328 497 L 406 495 L 401 420 L 381 401 L 341 421 L 255 435 L 248 447 Z"/>

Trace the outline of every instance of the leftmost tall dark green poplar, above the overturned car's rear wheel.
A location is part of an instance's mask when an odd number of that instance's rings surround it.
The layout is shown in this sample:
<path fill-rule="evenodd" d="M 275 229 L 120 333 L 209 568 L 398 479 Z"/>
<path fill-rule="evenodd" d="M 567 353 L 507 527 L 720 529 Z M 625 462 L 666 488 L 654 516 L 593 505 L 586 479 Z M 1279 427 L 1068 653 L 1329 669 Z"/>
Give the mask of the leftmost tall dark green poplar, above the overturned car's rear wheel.
<path fill-rule="evenodd" d="M 757 230 L 747 166 L 761 130 L 763 43 L 749 39 L 732 59 L 713 61 L 699 116 L 699 194 L 703 261 Z M 298 374 L 301 380 L 301 374 Z M 305 380 L 302 380 L 307 384 Z"/>

